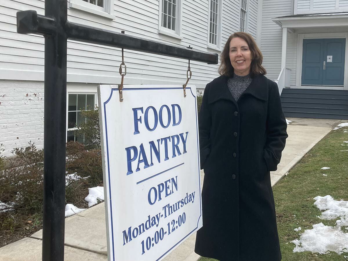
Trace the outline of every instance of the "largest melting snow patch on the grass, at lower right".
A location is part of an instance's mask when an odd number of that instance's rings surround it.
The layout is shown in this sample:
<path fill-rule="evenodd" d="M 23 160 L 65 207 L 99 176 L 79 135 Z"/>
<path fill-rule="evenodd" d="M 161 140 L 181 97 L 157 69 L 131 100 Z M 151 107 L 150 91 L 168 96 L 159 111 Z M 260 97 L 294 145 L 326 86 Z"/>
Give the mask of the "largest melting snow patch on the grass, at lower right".
<path fill-rule="evenodd" d="M 333 220 L 339 217 L 341 219 L 337 220 L 333 227 L 319 223 L 313 225 L 313 229 L 305 230 L 300 239 L 292 241 L 296 245 L 293 252 L 348 253 L 348 233 L 341 229 L 343 226 L 348 226 L 348 201 L 334 200 L 330 195 L 318 196 L 314 199 L 316 200 L 314 205 L 320 210 L 325 210 L 321 216 L 318 216 L 320 219 Z"/>

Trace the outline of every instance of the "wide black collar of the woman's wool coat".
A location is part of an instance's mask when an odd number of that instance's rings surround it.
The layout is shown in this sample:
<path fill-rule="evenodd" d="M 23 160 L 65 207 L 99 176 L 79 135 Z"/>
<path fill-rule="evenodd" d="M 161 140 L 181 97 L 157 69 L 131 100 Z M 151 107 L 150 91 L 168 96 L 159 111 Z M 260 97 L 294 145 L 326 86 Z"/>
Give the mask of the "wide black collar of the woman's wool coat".
<path fill-rule="evenodd" d="M 236 100 L 232 96 L 230 90 L 228 89 L 227 85 L 227 76 L 220 76 L 212 81 L 212 91 L 211 93 L 211 99 L 209 99 L 209 103 L 215 102 L 217 100 L 223 99 L 223 100 L 230 100 L 234 103 L 236 103 Z M 262 101 L 268 100 L 268 80 L 265 76 L 259 74 L 253 77 L 251 84 L 245 89 L 243 94 L 244 95 L 252 95 L 255 98 L 258 98 Z M 210 96 L 210 95 L 209 95 Z"/>

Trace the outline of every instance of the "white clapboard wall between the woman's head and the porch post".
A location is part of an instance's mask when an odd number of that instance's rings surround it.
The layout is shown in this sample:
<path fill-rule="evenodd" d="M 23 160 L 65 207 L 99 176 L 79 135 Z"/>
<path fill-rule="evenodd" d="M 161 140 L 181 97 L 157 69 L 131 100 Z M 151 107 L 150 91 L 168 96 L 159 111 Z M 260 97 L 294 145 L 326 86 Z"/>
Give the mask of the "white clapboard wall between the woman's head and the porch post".
<path fill-rule="evenodd" d="M 282 28 L 272 18 L 291 15 L 292 0 L 263 0 L 261 52 L 267 77 L 276 80 L 282 65 Z"/>

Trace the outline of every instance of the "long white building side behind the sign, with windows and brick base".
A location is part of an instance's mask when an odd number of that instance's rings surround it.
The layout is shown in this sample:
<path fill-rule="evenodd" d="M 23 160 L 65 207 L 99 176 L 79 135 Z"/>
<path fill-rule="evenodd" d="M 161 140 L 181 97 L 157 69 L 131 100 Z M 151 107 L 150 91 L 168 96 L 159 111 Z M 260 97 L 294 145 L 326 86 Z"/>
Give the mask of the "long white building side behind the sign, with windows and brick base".
<path fill-rule="evenodd" d="M 16 12 L 44 15 L 44 0 L 0 1 L 0 143 L 43 145 L 44 38 L 16 33 Z M 167 44 L 221 53 L 230 34 L 258 31 L 258 0 L 68 0 L 70 22 Z M 261 20 L 259 20 L 261 21 Z M 260 39 L 258 39 L 260 40 Z M 119 84 L 120 49 L 68 41 L 67 140 L 83 120 L 79 109 L 96 104 L 98 84 Z M 125 84 L 180 84 L 188 61 L 125 50 Z M 218 76 L 218 65 L 191 62 L 190 84 L 204 88 Z M 274 72 L 276 74 L 277 72 Z"/>

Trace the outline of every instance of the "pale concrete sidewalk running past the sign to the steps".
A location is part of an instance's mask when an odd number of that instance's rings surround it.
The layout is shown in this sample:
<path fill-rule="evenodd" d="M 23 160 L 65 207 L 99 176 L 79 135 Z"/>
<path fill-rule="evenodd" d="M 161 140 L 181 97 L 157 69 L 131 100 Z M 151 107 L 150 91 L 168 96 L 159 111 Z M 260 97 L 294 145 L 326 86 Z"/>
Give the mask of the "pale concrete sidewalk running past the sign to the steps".
<path fill-rule="evenodd" d="M 278 170 L 271 172 L 276 184 L 313 146 L 323 139 L 340 120 L 288 118 L 288 139 Z M 201 171 L 203 182 L 204 173 Z M 193 252 L 196 234 L 169 254 L 165 261 L 197 261 Z M 42 230 L 31 237 L 0 248 L 1 261 L 41 261 Z M 108 260 L 104 203 L 65 219 L 65 261 Z M 128 261 L 128 260 L 120 260 Z M 130 261 L 130 260 L 129 260 Z M 132 260 L 134 261 L 134 260 Z"/>

